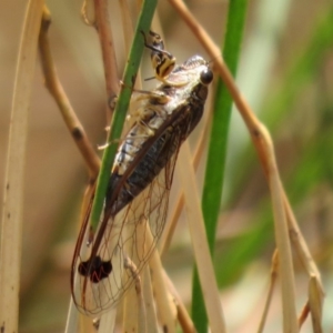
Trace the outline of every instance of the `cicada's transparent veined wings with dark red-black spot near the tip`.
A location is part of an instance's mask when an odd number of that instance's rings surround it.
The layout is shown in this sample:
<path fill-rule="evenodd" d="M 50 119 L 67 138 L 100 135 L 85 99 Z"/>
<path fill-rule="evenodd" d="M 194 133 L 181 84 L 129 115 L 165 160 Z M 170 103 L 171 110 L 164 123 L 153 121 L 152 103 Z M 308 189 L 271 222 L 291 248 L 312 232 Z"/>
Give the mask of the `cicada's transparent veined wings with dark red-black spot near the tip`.
<path fill-rule="evenodd" d="M 81 312 L 95 316 L 117 305 L 155 250 L 167 220 L 182 130 L 175 127 L 165 137 L 160 151 L 167 161 L 164 168 L 115 216 L 103 218 L 89 248 L 89 224 L 82 225 L 84 236 L 79 236 L 80 250 L 75 251 L 72 266 L 73 299 Z M 148 233 L 152 242 L 147 242 Z M 124 268 L 125 261 L 133 263 L 134 272 Z"/>

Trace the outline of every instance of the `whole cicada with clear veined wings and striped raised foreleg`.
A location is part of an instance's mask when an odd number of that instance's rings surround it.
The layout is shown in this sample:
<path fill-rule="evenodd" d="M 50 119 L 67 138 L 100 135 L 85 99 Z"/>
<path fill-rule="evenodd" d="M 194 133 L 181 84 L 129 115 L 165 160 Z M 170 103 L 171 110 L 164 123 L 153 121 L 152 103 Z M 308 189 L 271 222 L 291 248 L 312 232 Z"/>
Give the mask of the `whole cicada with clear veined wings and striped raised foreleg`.
<path fill-rule="evenodd" d="M 213 80 L 203 58 L 193 56 L 175 65 L 161 37 L 150 36 L 152 43 L 144 36 L 144 46 L 161 83 L 142 97 L 138 119 L 118 148 L 99 228 L 88 241 L 90 205 L 73 255 L 73 301 L 91 316 L 117 305 L 134 281 L 125 263 L 130 260 L 140 272 L 154 251 L 179 149 L 200 121 Z"/>

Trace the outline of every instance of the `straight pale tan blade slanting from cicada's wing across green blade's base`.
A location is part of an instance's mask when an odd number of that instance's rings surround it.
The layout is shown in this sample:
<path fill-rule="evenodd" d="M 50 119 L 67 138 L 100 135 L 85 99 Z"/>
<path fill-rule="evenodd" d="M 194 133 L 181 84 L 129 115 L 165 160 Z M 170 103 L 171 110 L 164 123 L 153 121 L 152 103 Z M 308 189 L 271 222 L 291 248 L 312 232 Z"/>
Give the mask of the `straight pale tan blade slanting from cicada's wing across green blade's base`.
<path fill-rule="evenodd" d="M 214 276 L 213 264 L 208 246 L 204 222 L 200 205 L 199 192 L 195 184 L 195 174 L 191 165 L 191 153 L 183 145 L 179 153 L 181 180 L 185 194 L 186 218 L 190 225 L 192 249 L 194 251 L 199 279 L 202 287 L 205 309 L 212 332 L 225 332 L 222 305 L 219 289 Z"/>

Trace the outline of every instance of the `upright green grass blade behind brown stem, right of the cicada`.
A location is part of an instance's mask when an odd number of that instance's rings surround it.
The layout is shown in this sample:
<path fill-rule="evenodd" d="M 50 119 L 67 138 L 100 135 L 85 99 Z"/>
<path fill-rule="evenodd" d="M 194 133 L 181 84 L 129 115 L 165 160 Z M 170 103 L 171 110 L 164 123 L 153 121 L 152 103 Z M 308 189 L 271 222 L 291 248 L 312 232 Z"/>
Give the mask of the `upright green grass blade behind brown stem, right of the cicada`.
<path fill-rule="evenodd" d="M 228 26 L 223 57 L 233 75 L 236 72 L 246 14 L 246 0 L 230 1 L 228 12 Z M 214 249 L 216 222 L 222 198 L 223 175 L 226 155 L 226 138 L 229 131 L 231 107 L 232 99 L 226 88 L 223 87 L 221 81 L 219 81 L 202 195 L 202 211 L 211 253 L 213 253 Z M 192 317 L 196 331 L 206 332 L 208 317 L 204 309 L 204 302 L 196 269 L 194 269 L 193 274 Z"/>

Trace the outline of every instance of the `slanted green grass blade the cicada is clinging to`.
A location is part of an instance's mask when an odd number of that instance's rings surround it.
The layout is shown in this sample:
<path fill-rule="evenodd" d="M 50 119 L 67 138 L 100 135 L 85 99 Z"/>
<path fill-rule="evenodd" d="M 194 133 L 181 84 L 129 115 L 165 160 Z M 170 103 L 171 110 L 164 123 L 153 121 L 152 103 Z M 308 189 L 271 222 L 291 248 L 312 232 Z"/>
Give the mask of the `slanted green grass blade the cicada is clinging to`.
<path fill-rule="evenodd" d="M 143 37 L 141 31 L 148 33 L 151 20 L 157 7 L 158 0 L 145 0 L 142 3 L 141 13 L 139 16 L 138 26 L 134 33 L 134 39 L 130 56 L 125 65 L 124 74 L 119 99 L 117 101 L 113 119 L 111 122 L 111 132 L 108 139 L 108 148 L 104 150 L 102 165 L 98 178 L 95 195 L 91 211 L 91 228 L 95 231 L 100 221 L 100 215 L 103 209 L 103 202 L 110 178 L 110 170 L 117 153 L 117 140 L 120 139 L 122 127 L 127 117 L 127 111 L 131 99 L 131 87 L 135 82 L 135 77 L 139 70 L 140 60 L 143 53 Z"/>

